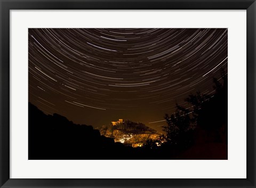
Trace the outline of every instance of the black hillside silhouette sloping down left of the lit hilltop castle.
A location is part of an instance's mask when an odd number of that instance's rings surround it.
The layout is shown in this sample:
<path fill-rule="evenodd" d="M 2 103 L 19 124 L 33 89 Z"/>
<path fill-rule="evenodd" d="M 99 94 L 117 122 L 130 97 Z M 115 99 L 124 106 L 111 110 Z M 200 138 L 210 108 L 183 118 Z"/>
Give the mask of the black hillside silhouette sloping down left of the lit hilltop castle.
<path fill-rule="evenodd" d="M 73 124 L 56 113 L 45 115 L 29 103 L 29 159 L 107 159 L 107 151 L 120 148 L 123 144 L 92 126 Z"/>

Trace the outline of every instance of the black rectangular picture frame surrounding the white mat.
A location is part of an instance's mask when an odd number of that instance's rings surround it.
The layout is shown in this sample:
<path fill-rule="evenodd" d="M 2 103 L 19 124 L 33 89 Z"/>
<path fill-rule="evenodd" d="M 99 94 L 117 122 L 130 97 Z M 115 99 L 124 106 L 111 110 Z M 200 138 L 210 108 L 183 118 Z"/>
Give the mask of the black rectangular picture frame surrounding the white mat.
<path fill-rule="evenodd" d="M 255 187 L 255 0 L 0 0 L 1 187 Z M 246 179 L 12 179 L 10 178 L 10 10 L 246 10 Z M 244 125 L 245 126 L 245 125 Z"/>

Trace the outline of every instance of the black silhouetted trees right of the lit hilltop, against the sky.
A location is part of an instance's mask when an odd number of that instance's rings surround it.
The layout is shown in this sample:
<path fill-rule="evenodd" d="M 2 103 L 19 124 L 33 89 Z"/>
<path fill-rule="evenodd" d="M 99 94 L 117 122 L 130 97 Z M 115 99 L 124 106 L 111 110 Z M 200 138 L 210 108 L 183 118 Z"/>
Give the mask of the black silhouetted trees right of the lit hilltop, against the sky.
<path fill-rule="evenodd" d="M 227 73 L 221 69 L 221 78 L 213 78 L 214 95 L 190 94 L 185 101 L 189 108 L 177 104 L 177 111 L 171 116 L 165 115 L 167 126 L 167 144 L 179 148 L 188 148 L 194 143 L 195 131 L 204 129 L 209 142 L 227 142 Z"/>

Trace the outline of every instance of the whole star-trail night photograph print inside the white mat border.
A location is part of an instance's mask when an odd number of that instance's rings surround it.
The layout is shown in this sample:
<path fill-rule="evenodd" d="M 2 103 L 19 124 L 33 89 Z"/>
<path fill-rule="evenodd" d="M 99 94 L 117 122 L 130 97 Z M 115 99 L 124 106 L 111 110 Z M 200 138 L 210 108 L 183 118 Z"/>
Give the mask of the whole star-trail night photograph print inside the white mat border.
<path fill-rule="evenodd" d="M 29 28 L 28 159 L 228 159 L 227 28 Z"/>

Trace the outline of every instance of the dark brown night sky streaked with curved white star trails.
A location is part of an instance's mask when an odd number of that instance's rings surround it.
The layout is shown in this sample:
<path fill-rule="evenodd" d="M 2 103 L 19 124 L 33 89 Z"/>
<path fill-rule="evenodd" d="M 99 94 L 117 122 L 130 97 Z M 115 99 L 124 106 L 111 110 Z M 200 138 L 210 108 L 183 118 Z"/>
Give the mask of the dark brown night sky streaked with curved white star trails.
<path fill-rule="evenodd" d="M 213 77 L 228 67 L 228 30 L 29 29 L 28 50 L 28 100 L 46 114 L 161 130 L 175 103 L 213 93 Z"/>

